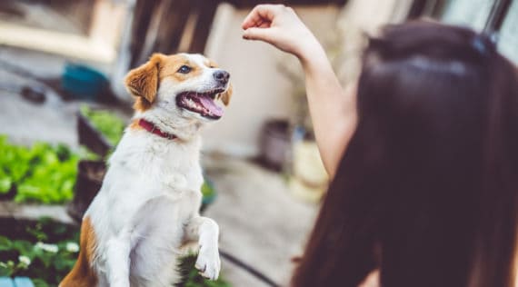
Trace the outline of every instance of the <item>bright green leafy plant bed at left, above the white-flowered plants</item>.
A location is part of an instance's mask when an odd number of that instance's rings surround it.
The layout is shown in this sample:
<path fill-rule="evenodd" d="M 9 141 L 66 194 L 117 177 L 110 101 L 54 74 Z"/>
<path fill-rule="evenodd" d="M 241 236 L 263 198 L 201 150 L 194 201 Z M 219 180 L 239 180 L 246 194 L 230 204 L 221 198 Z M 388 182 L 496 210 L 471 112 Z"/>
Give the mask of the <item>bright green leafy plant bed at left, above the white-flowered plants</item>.
<path fill-rule="evenodd" d="M 0 136 L 0 193 L 15 202 L 64 203 L 73 196 L 79 156 L 63 144 L 25 147 Z"/>

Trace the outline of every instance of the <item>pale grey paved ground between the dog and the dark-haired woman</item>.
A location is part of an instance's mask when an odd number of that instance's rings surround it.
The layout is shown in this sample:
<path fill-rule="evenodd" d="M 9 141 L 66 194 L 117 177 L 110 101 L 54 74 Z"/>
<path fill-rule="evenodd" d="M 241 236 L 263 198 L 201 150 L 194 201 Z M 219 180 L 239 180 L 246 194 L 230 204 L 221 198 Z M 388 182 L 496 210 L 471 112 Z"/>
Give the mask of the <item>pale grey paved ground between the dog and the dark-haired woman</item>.
<path fill-rule="evenodd" d="M 206 216 L 220 225 L 220 248 L 286 285 L 310 232 L 316 206 L 288 193 L 284 178 L 239 159 L 205 156 L 207 176 L 218 193 Z M 223 273 L 234 286 L 267 286 L 230 262 Z"/>

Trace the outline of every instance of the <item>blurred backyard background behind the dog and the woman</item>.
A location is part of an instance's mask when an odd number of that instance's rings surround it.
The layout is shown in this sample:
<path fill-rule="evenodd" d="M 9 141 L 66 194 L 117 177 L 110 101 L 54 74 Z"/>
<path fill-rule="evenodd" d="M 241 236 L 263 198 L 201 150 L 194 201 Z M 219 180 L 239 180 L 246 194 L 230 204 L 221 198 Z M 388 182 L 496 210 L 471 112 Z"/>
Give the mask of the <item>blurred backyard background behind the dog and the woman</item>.
<path fill-rule="evenodd" d="M 422 17 L 491 34 L 518 63 L 518 0 L 271 2 L 294 7 L 344 86 L 365 35 Z M 234 84 L 203 135 L 203 213 L 221 228 L 222 279 L 204 282 L 186 259 L 185 286 L 287 284 L 328 177 L 296 59 L 241 38 L 259 3 L 0 1 L 0 286 L 56 286 L 71 269 L 78 223 L 132 116 L 123 78 L 155 52 L 206 54 Z"/>

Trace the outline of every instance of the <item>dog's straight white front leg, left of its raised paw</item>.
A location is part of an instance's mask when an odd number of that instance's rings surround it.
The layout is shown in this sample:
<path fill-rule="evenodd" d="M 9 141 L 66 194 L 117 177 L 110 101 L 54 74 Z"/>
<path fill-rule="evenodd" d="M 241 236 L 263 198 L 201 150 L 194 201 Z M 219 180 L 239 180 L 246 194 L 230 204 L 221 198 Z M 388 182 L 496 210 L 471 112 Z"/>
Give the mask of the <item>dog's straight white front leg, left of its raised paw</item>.
<path fill-rule="evenodd" d="M 121 231 L 106 243 L 107 279 L 110 287 L 129 287 L 130 235 Z"/>

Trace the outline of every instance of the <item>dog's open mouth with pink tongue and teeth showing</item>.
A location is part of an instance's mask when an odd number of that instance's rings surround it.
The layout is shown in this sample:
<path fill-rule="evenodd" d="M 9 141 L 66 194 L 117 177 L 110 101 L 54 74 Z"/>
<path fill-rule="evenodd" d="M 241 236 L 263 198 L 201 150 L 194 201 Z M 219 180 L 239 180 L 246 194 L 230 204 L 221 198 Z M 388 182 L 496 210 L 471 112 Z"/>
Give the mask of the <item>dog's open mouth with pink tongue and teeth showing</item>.
<path fill-rule="evenodd" d="M 176 96 L 176 104 L 205 118 L 218 120 L 223 116 L 223 108 L 214 103 L 214 99 L 223 89 L 213 90 L 205 93 L 184 92 Z"/>

